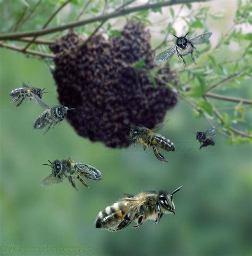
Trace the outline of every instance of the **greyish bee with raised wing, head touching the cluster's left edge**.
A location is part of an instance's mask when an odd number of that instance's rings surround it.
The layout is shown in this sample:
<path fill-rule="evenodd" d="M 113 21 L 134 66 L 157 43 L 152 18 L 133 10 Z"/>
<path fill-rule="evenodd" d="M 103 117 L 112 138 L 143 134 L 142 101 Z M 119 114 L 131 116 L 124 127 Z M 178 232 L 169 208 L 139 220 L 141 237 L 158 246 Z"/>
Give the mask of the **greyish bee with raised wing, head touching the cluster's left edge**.
<path fill-rule="evenodd" d="M 42 108 L 45 108 L 46 110 L 41 113 L 34 121 L 33 123 L 33 129 L 43 129 L 44 127 L 47 127 L 46 131 L 44 132 L 44 135 L 49 131 L 49 129 L 54 128 L 56 124 L 59 124 L 68 114 L 68 110 L 72 110 L 74 108 L 68 108 L 65 106 L 53 106 L 49 107 L 41 101 L 37 95 L 32 94 L 32 97 L 37 101 L 38 105 Z"/>

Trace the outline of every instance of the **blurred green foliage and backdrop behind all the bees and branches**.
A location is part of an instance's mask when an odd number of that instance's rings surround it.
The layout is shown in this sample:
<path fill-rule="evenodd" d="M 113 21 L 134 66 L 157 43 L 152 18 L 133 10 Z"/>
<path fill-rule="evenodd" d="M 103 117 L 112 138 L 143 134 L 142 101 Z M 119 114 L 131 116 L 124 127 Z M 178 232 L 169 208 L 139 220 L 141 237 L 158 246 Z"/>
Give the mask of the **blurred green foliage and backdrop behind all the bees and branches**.
<path fill-rule="evenodd" d="M 29 17 L 38 2 L 0 0 L 1 33 L 14 31 L 24 10 L 23 17 Z M 81 19 L 103 13 L 105 6 L 105 12 L 108 12 L 123 4 L 112 0 L 74 0 L 56 15 L 50 26 L 76 20 L 88 2 Z M 212 13 L 214 2 L 168 8 L 167 27 L 158 27 L 152 18 L 155 14 L 165 13 L 164 8 L 160 8 L 108 20 L 99 33 L 120 36 L 120 28 L 126 19 L 141 20 L 151 31 L 159 32 L 158 36 L 153 34 L 154 47 L 165 38 L 158 53 L 172 46 L 174 37 L 171 34 L 180 34 L 175 26 L 177 21 L 184 21 L 181 30 L 183 34 L 190 31 L 191 37 L 211 30 L 211 23 L 216 19 L 224 21 L 228 15 L 225 6 Z M 63 3 L 62 0 L 41 1 L 31 17 L 23 24 L 21 22 L 18 31 L 41 29 Z M 178 15 L 180 8 L 189 13 Z M 99 24 L 81 26 L 76 31 L 87 38 Z M 116 150 L 108 149 L 102 143 L 91 143 L 78 137 L 65 121 L 45 136 L 43 132 L 32 130 L 32 122 L 41 113 L 41 108 L 33 101 L 25 101 L 15 109 L 9 93 L 19 87 L 22 80 L 29 80 L 34 86 L 46 87 L 49 93 L 43 97 L 51 106 L 57 103 L 55 82 L 47 62 L 0 49 L 0 254 L 40 255 L 44 252 L 44 255 L 65 255 L 57 247 L 87 246 L 91 247 L 91 252 L 79 255 L 250 255 L 251 147 L 248 143 L 240 145 L 250 139 L 232 132 L 230 126 L 251 133 L 251 106 L 212 98 L 207 98 L 207 102 L 203 98 L 209 87 L 230 77 L 228 83 L 217 86 L 213 92 L 251 99 L 249 26 L 251 1 L 238 1 L 236 16 L 221 31 L 223 36 L 219 42 L 212 46 L 211 38 L 208 44 L 197 46 L 196 66 L 188 56 L 188 68 L 184 71 L 177 57 L 171 59 L 171 67 L 179 71 L 180 84 L 167 86 L 179 92 L 181 100 L 167 115 L 170 122 L 161 131 L 177 147 L 174 153 L 162 153 L 169 159 L 169 164 L 159 163 L 151 150 L 144 153 L 141 147 Z M 212 32 L 219 33 L 220 30 Z M 55 39 L 65 33 L 61 31 L 42 38 Z M 14 41 L 5 43 L 26 45 Z M 238 50 L 232 51 L 233 47 Z M 30 49 L 50 52 L 44 45 L 32 44 Z M 140 62 L 135 67 L 140 69 L 143 65 Z M 152 70 L 149 75 L 158 76 L 157 70 Z M 155 79 L 153 81 L 155 86 Z M 216 119 L 214 110 L 221 113 L 224 124 L 218 123 L 220 120 Z M 228 145 L 219 133 L 215 146 L 198 150 L 194 132 L 205 131 L 210 125 L 200 118 L 203 116 L 209 123 L 217 123 L 219 131 L 228 136 L 228 142 L 236 145 Z M 103 180 L 91 184 L 91 189 L 78 183 L 78 192 L 67 180 L 52 187 L 41 187 L 41 180 L 50 172 L 48 166 L 41 164 L 47 159 L 67 158 L 69 154 L 76 161 L 96 166 L 102 171 Z M 94 228 L 96 214 L 122 197 L 124 192 L 172 191 L 180 185 L 183 189 L 174 196 L 176 215 L 164 215 L 158 226 L 149 221 L 139 229 L 129 227 L 119 233 Z M 38 253 L 11 252 L 10 248 L 15 245 L 37 247 Z M 7 252 L 4 252 L 5 246 L 9 246 Z"/>

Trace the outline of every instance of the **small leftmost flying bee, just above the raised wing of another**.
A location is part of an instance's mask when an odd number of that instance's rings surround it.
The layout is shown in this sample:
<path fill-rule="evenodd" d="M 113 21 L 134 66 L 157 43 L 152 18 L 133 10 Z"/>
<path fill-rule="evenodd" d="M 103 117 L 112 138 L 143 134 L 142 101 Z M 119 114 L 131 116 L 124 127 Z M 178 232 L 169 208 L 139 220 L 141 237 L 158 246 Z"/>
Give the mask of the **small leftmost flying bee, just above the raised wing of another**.
<path fill-rule="evenodd" d="M 33 99 L 32 93 L 37 95 L 39 99 L 42 98 L 43 93 L 46 93 L 44 92 L 45 88 L 41 90 L 39 88 L 33 87 L 30 82 L 28 83 L 29 86 L 23 82 L 23 87 L 11 91 L 10 95 L 14 98 L 12 102 L 14 103 L 19 101 L 16 107 L 19 107 L 25 99 L 30 102 Z"/>

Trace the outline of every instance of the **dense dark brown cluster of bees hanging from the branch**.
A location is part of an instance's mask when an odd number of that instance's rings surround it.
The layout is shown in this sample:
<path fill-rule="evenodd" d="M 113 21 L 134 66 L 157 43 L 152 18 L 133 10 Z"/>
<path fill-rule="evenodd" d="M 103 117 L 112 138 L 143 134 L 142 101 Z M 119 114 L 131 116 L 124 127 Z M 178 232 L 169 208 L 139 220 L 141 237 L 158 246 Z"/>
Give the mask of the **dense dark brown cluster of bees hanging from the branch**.
<path fill-rule="evenodd" d="M 75 108 L 68 113 L 70 124 L 82 137 L 113 148 L 130 145 L 127 127 L 152 128 L 177 103 L 165 83 L 156 79 L 154 86 L 148 75 L 157 66 L 145 25 L 130 21 L 121 34 L 110 41 L 97 35 L 85 43 L 70 31 L 50 46 L 56 54 L 53 75 L 59 100 Z M 133 68 L 142 58 L 145 70 Z M 159 73 L 177 83 L 169 67 Z"/>

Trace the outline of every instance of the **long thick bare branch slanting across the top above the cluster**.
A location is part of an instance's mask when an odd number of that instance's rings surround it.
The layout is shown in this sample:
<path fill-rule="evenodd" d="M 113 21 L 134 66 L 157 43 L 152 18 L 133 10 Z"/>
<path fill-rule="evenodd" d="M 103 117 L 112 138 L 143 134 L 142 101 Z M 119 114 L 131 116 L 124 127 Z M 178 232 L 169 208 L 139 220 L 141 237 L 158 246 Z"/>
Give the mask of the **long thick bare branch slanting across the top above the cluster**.
<path fill-rule="evenodd" d="M 110 18 L 119 17 L 119 16 L 129 14 L 132 12 L 138 12 L 138 11 L 153 9 L 153 8 L 157 8 L 157 7 L 163 7 L 163 6 L 170 6 L 170 5 L 174 5 L 174 4 L 184 4 L 184 3 L 189 3 L 189 2 L 191 2 L 191 3 L 192 2 L 206 2 L 206 0 L 177 0 L 177 1 L 171 0 L 171 1 L 158 2 L 158 3 L 154 3 L 154 4 L 144 4 L 144 5 L 131 7 L 129 9 L 123 9 L 121 11 L 114 11 L 112 13 L 98 15 L 97 17 L 93 17 L 93 18 L 89 18 L 89 19 L 70 22 L 70 23 L 60 25 L 60 26 L 55 26 L 52 28 L 24 31 L 24 32 L 19 32 L 19 33 L 3 34 L 3 35 L 0 35 L 0 40 L 15 39 L 15 38 L 26 37 L 26 36 L 47 35 L 47 34 L 55 33 L 57 31 L 83 26 L 83 25 L 93 23 L 96 21 L 103 21 L 103 20 L 107 20 Z"/>

